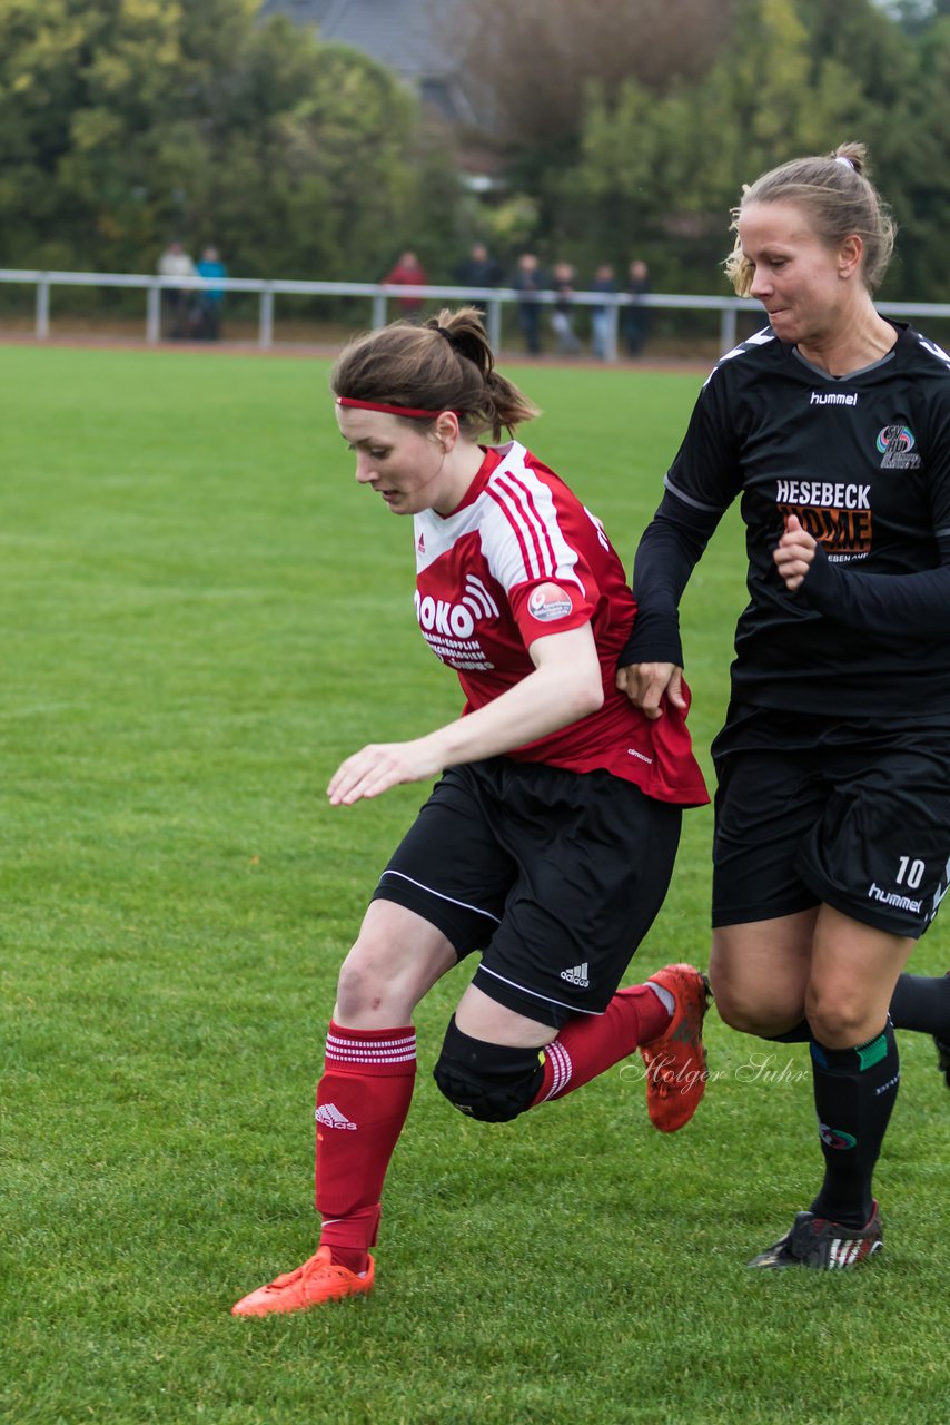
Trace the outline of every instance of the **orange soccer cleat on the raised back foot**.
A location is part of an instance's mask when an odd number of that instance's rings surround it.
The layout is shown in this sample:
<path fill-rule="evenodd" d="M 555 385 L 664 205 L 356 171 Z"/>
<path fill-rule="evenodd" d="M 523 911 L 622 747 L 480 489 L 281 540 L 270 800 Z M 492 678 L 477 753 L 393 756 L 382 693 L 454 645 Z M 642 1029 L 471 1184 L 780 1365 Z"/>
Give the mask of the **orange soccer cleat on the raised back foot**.
<path fill-rule="evenodd" d="M 640 1046 L 647 1066 L 647 1112 L 661 1133 L 689 1123 L 706 1092 L 706 1052 L 702 1019 L 709 983 L 692 965 L 667 965 L 647 983 L 659 985 L 674 999 L 672 1019 L 658 1039 Z"/>

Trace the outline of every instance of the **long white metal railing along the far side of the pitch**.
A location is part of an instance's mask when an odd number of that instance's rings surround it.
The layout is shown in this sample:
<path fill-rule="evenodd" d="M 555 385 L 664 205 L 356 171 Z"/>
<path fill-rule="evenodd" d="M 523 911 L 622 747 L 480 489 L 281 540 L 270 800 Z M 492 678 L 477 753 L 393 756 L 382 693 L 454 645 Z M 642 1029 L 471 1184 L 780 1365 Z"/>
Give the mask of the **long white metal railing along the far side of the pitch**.
<path fill-rule="evenodd" d="M 404 296 L 439 298 L 477 302 L 486 309 L 489 336 L 496 351 L 501 345 L 503 306 L 524 301 L 524 294 L 508 286 L 386 286 L 380 282 L 292 282 L 283 279 L 228 276 L 150 276 L 140 272 L 46 272 L 27 268 L 0 268 L 0 282 L 36 286 L 34 333 L 41 341 L 50 335 L 50 292 L 54 286 L 121 286 L 145 292 L 145 341 L 161 341 L 161 294 L 175 291 L 256 292 L 258 346 L 273 345 L 273 308 L 281 295 L 293 296 L 365 296 L 370 304 L 370 325 L 383 326 L 389 302 Z M 557 292 L 538 292 L 538 305 L 551 306 Z M 671 292 L 651 292 L 631 298 L 627 292 L 574 292 L 573 305 L 598 306 L 607 311 L 605 359 L 617 361 L 621 311 L 631 305 L 652 309 L 719 312 L 719 349 L 731 351 L 736 343 L 736 314 L 753 306 L 738 296 L 688 296 Z M 877 309 L 890 316 L 950 316 L 950 305 L 937 302 L 880 302 Z M 1 322 L 1 318 L 0 318 Z"/>

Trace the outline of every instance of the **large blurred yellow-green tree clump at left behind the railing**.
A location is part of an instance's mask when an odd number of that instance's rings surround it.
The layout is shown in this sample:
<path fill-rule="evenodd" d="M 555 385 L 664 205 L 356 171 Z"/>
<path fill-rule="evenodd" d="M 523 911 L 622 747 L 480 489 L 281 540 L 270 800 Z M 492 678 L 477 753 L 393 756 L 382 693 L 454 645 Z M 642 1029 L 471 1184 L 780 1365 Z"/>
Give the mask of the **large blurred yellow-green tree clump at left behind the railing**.
<path fill-rule="evenodd" d="M 141 271 L 179 237 L 232 272 L 373 279 L 443 238 L 451 180 L 414 97 L 256 10 L 0 0 L 7 265 Z"/>

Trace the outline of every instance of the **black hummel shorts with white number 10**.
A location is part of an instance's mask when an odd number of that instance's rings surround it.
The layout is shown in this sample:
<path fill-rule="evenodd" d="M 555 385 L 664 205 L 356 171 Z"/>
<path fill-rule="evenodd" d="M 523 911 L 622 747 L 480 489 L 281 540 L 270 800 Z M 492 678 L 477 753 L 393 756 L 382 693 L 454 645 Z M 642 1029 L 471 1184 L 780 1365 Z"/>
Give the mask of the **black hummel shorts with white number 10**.
<path fill-rule="evenodd" d="M 950 728 L 732 705 L 712 757 L 714 926 L 826 903 L 923 935 L 950 872 Z"/>

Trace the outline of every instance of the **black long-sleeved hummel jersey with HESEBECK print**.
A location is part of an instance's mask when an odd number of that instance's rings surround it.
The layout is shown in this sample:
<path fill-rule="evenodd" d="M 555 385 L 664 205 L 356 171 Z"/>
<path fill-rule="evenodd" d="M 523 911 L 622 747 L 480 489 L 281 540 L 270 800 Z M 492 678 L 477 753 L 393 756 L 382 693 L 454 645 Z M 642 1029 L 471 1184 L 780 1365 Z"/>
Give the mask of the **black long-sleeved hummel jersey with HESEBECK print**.
<path fill-rule="evenodd" d="M 682 663 L 675 604 L 741 496 L 749 604 L 734 698 L 846 717 L 946 715 L 950 356 L 894 325 L 893 349 L 840 379 L 771 328 L 715 366 L 637 554 L 640 631 L 622 664 Z M 789 514 L 819 542 L 796 593 L 772 557 Z"/>

